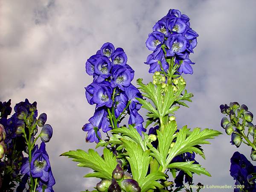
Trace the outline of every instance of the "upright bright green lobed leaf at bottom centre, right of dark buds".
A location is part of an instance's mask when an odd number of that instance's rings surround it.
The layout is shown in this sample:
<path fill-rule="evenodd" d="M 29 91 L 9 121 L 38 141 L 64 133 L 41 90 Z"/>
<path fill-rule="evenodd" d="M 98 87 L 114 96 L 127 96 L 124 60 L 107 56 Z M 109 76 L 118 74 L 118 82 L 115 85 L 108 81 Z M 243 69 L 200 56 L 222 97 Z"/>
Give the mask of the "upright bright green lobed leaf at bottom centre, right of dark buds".
<path fill-rule="evenodd" d="M 149 162 L 152 160 L 152 157 L 149 156 L 150 150 L 143 151 L 140 144 L 132 141 L 122 140 L 122 142 L 129 155 L 126 159 L 130 163 L 133 179 L 139 183 L 141 192 L 162 186 L 155 180 L 165 179 L 164 173 L 154 172 L 147 175 Z"/>

